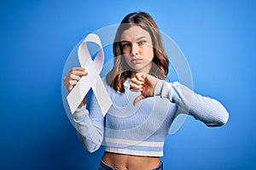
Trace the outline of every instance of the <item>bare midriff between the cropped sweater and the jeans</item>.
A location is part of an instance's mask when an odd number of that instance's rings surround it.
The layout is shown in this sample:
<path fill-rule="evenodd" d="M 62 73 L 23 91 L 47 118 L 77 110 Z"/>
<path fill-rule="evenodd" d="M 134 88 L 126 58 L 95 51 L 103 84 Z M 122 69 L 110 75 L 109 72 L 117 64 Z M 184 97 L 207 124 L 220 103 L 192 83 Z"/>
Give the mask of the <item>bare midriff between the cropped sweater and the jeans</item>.
<path fill-rule="evenodd" d="M 158 156 L 131 156 L 105 151 L 102 161 L 119 170 L 149 170 L 160 166 Z"/>

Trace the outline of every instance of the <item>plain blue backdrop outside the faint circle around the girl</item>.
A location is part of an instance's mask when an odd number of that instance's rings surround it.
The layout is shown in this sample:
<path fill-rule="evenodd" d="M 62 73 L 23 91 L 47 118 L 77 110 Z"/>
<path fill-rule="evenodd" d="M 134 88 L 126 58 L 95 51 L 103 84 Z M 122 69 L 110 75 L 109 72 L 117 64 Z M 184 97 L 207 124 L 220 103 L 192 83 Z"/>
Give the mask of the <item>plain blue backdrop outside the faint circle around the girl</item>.
<path fill-rule="evenodd" d="M 255 1 L 254 1 L 255 2 Z M 188 117 L 166 139 L 165 169 L 255 169 L 256 3 L 1 1 L 0 169 L 96 169 L 61 99 L 62 71 L 88 33 L 143 10 L 186 56 L 194 90 L 230 112 L 224 127 Z"/>

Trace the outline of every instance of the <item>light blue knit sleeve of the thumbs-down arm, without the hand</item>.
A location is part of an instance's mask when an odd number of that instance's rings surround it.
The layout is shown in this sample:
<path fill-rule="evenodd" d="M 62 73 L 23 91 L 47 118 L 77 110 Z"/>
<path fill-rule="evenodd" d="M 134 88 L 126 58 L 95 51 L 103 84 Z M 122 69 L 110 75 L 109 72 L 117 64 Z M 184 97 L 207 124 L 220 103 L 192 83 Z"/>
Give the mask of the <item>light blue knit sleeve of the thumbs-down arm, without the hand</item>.
<path fill-rule="evenodd" d="M 216 99 L 195 94 L 179 82 L 158 81 L 154 95 L 168 98 L 179 106 L 178 113 L 187 113 L 204 122 L 209 127 L 223 126 L 229 119 L 229 113 Z"/>

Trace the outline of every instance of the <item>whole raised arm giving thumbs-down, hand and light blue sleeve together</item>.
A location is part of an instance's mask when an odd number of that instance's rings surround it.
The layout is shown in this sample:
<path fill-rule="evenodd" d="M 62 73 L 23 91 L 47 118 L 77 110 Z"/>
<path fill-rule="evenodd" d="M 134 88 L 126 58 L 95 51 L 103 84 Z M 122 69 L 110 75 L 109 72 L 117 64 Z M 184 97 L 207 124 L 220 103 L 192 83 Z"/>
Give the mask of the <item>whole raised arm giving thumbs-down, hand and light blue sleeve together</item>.
<path fill-rule="evenodd" d="M 131 82 L 131 90 L 142 93 L 134 100 L 135 104 L 141 99 L 160 95 L 179 106 L 177 114 L 189 114 L 207 126 L 222 126 L 229 119 L 229 113 L 216 99 L 195 94 L 179 82 L 166 82 L 148 74 L 137 74 Z"/>

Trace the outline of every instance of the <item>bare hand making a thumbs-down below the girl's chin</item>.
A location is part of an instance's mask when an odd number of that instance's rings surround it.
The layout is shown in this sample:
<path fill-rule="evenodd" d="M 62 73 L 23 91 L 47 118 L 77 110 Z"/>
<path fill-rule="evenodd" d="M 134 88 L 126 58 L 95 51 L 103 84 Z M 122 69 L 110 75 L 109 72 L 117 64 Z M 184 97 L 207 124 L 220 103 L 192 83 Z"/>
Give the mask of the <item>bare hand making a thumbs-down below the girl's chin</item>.
<path fill-rule="evenodd" d="M 153 97 L 154 88 L 157 82 L 157 78 L 145 73 L 137 73 L 135 77 L 131 78 L 131 91 L 142 93 L 136 99 L 134 99 L 133 105 L 136 105 L 137 102 L 142 99 Z"/>

